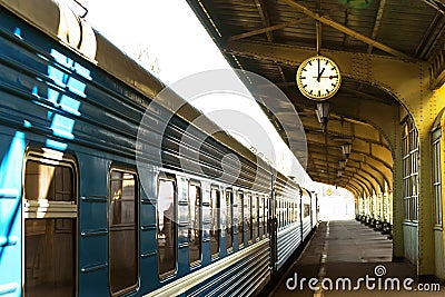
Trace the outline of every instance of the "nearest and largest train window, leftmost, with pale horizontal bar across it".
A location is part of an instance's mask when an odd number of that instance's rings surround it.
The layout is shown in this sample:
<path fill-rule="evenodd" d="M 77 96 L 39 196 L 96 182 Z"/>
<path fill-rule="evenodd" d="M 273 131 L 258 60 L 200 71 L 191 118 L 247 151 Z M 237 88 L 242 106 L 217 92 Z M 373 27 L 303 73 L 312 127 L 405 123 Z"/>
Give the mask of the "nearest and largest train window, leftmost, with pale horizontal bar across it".
<path fill-rule="evenodd" d="M 72 158 L 30 154 L 24 168 L 24 294 L 76 295 L 77 186 Z"/>

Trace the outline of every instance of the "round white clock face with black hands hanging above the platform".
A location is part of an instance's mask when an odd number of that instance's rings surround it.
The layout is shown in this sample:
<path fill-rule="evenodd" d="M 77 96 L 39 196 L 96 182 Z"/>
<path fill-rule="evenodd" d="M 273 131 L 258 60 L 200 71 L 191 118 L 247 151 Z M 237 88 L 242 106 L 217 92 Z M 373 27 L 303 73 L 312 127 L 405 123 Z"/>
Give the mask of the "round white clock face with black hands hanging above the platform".
<path fill-rule="evenodd" d="M 333 97 L 340 87 L 338 66 L 329 58 L 316 56 L 299 66 L 297 86 L 304 96 L 318 101 Z"/>

